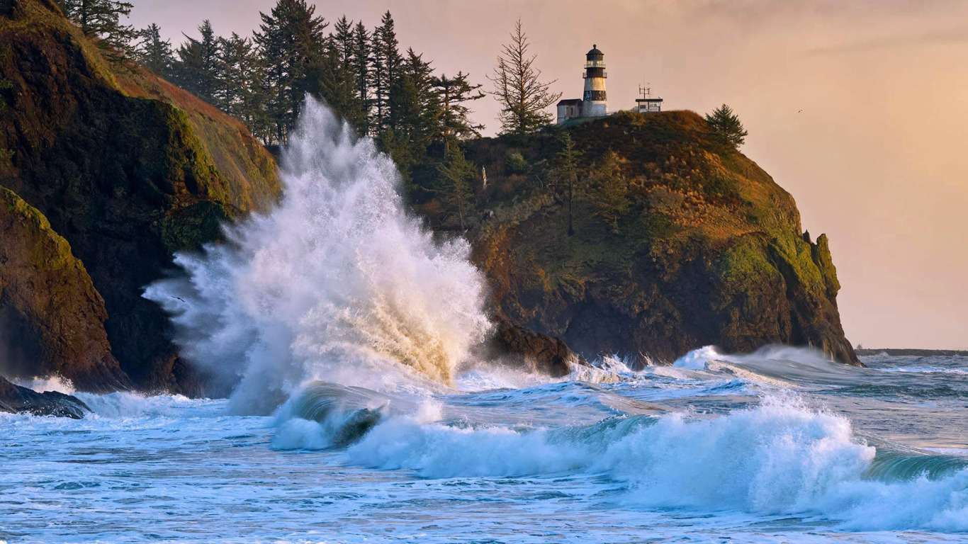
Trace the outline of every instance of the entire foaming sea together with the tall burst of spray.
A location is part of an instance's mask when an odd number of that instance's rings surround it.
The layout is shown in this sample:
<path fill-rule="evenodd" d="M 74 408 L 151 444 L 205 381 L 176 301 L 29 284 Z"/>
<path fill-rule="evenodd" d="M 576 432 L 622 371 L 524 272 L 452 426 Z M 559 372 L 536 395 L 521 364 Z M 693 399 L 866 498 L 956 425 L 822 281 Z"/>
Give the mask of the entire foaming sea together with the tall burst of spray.
<path fill-rule="evenodd" d="M 486 284 L 310 102 L 277 208 L 146 287 L 225 399 L 0 414 L 0 541 L 961 542 L 968 360 L 490 360 Z M 53 379 L 23 383 L 73 392 Z"/>

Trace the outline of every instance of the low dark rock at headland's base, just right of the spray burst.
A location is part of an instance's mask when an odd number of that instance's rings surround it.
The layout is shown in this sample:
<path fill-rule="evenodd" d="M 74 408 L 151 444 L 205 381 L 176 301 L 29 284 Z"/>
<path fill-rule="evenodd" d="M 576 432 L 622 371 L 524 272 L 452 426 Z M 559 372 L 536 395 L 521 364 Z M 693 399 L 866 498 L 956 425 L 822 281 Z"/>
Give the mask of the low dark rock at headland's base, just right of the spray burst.
<path fill-rule="evenodd" d="M 495 355 L 520 357 L 530 371 L 560 378 L 570 373 L 573 365 L 586 364 L 560 338 L 538 334 L 505 319 L 499 320 L 497 329 L 493 340 Z"/>

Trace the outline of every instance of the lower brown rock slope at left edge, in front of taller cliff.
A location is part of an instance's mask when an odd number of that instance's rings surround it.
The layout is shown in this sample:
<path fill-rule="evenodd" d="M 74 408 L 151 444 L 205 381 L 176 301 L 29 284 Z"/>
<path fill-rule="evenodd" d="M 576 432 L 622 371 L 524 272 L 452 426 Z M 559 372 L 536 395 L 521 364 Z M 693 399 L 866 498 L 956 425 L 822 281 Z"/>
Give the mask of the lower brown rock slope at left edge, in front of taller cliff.
<path fill-rule="evenodd" d="M 41 212 L 0 187 L 0 372 L 57 374 L 107 392 L 131 382 L 111 354 L 105 303 L 67 240 Z"/>

